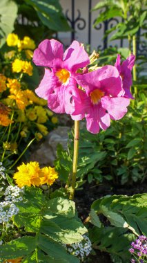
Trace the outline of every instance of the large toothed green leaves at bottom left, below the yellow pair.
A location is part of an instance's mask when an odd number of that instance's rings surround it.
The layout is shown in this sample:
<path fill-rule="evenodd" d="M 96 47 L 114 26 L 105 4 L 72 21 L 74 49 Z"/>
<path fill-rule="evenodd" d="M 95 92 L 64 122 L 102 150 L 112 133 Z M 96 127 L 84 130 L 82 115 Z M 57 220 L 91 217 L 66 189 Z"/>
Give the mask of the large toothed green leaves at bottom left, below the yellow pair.
<path fill-rule="evenodd" d="M 39 188 L 26 188 L 17 207 L 13 223 L 21 237 L 1 246 L 2 260 L 23 257 L 22 262 L 79 262 L 62 245 L 80 242 L 87 232 L 75 215 L 73 201 L 48 200 Z"/>

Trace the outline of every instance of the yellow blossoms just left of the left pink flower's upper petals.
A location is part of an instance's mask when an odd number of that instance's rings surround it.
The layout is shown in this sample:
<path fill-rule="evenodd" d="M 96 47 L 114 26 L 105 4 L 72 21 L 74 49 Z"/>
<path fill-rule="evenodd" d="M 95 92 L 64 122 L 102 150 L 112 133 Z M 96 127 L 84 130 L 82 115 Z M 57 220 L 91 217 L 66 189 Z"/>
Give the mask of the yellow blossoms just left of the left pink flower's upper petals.
<path fill-rule="evenodd" d="M 12 62 L 12 72 L 16 73 L 26 73 L 28 75 L 32 75 L 32 65 L 28 61 L 19 60 L 16 58 L 14 62 Z"/>

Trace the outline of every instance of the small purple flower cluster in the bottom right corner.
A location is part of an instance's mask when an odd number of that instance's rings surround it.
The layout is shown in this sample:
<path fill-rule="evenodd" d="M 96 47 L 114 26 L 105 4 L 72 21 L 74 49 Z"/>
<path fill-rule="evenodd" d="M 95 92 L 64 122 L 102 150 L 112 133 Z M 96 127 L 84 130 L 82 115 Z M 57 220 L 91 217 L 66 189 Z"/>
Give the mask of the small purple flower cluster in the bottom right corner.
<path fill-rule="evenodd" d="M 134 256 L 130 260 L 131 263 L 140 262 L 140 263 L 146 263 L 147 262 L 147 237 L 144 235 L 141 235 L 138 237 L 138 239 L 135 240 L 135 242 L 131 243 L 131 248 L 129 249 L 129 252 Z"/>

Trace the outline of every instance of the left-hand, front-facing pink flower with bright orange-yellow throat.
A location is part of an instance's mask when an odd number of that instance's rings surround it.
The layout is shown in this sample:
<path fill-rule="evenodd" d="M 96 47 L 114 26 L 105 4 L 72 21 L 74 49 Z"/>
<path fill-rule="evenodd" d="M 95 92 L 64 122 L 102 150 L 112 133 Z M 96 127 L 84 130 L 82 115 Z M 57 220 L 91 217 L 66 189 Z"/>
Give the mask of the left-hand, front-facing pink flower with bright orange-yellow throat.
<path fill-rule="evenodd" d="M 43 79 L 35 90 L 37 95 L 48 100 L 48 107 L 52 111 L 71 114 L 74 108 L 70 98 L 79 96 L 75 80 L 77 70 L 90 63 L 84 47 L 74 41 L 63 53 L 60 42 L 46 39 L 35 49 L 33 62 L 46 67 Z"/>

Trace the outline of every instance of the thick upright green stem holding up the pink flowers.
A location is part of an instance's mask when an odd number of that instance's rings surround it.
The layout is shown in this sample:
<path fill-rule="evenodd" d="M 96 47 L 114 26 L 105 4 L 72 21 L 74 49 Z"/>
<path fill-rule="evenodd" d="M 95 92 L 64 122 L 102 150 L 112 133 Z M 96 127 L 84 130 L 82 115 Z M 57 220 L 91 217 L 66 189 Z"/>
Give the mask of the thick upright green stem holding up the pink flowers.
<path fill-rule="evenodd" d="M 73 153 L 70 200 L 74 199 L 74 194 L 75 194 L 78 152 L 79 152 L 79 120 L 75 120 L 74 153 Z"/>

